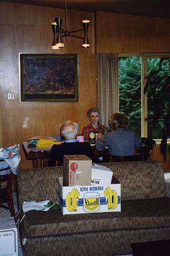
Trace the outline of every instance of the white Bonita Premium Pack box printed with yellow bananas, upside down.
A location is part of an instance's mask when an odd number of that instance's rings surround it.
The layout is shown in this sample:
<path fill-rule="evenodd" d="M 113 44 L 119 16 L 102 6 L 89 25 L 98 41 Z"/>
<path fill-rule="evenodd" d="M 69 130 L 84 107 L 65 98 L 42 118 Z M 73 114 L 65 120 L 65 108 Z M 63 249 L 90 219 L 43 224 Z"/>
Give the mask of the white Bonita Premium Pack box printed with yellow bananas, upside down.
<path fill-rule="evenodd" d="M 121 211 L 120 182 L 113 176 L 111 184 L 63 186 L 59 178 L 60 206 L 63 215 Z"/>

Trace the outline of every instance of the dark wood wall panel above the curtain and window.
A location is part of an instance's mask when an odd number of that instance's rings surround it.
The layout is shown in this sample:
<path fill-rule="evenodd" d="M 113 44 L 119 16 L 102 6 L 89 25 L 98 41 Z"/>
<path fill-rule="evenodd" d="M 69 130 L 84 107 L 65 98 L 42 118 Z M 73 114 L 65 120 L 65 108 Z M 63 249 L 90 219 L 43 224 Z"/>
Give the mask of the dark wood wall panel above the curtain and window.
<path fill-rule="evenodd" d="M 96 13 L 96 52 L 170 51 L 170 19 Z"/>

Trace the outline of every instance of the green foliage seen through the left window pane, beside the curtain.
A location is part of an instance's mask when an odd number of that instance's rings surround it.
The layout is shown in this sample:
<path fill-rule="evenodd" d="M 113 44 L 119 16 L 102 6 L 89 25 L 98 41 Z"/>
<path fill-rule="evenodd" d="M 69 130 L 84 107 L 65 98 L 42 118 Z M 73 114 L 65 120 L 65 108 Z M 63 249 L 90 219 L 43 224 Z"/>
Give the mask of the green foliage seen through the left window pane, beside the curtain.
<path fill-rule="evenodd" d="M 141 61 L 139 57 L 119 59 L 120 111 L 130 119 L 130 129 L 141 135 Z"/>

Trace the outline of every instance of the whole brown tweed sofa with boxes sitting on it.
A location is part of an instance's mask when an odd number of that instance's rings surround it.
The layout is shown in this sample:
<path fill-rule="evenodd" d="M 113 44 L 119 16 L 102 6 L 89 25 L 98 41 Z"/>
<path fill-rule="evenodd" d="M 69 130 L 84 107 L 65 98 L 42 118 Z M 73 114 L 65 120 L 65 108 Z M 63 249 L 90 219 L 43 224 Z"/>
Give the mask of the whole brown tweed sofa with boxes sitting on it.
<path fill-rule="evenodd" d="M 63 216 L 61 210 L 30 210 L 20 224 L 24 255 L 122 255 L 131 243 L 170 239 L 170 198 L 161 162 L 113 162 L 121 182 L 121 212 Z M 59 200 L 62 167 L 21 169 L 18 204 Z"/>

